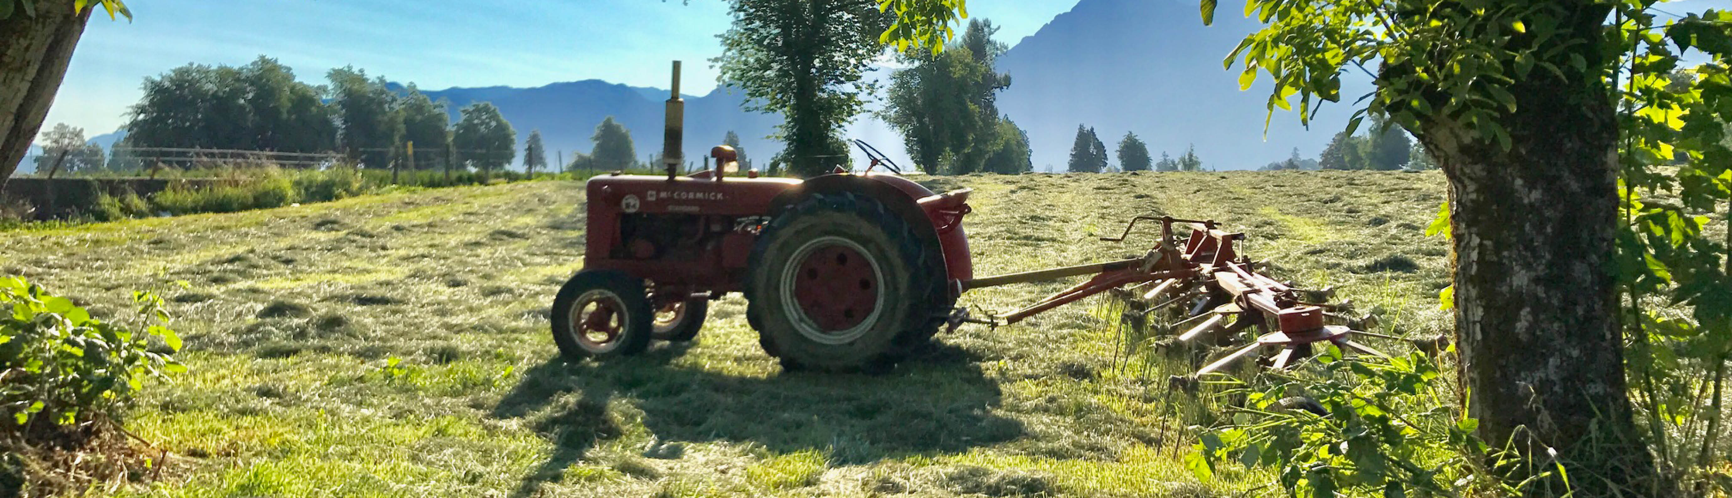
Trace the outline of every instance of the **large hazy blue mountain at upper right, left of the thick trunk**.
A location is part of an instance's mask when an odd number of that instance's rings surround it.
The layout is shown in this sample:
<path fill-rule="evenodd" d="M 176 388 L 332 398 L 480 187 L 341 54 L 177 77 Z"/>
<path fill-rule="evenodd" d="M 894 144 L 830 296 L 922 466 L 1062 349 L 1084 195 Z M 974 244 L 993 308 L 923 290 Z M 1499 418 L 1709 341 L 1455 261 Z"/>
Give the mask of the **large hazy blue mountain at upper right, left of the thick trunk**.
<path fill-rule="evenodd" d="M 1223 3 L 1214 26 L 1204 26 L 1195 0 L 1077 2 L 998 59 L 1011 76 L 998 107 L 1029 131 L 1036 169 L 1065 168 L 1077 124 L 1095 126 L 1110 150 L 1134 131 L 1155 159 L 1195 144 L 1214 169 L 1256 169 L 1294 147 L 1316 157 L 1346 126 L 1349 105 L 1325 105 L 1309 131 L 1280 111 L 1264 138 L 1268 76 L 1240 92 L 1238 71 L 1221 69 L 1257 29 L 1240 14 Z M 1344 102 L 1370 90 L 1365 81 L 1346 86 Z"/>

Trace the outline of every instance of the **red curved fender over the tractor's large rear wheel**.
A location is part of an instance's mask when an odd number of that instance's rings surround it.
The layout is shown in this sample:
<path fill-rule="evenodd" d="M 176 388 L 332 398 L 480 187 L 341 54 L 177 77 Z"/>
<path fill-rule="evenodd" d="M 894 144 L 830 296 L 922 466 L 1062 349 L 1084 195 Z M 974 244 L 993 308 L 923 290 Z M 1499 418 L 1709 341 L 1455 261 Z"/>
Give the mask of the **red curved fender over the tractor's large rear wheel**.
<path fill-rule="evenodd" d="M 954 202 L 949 202 L 949 204 L 958 204 L 960 208 L 947 206 L 953 208 L 951 211 L 960 209 L 958 214 L 951 214 L 951 218 L 956 220 L 935 220 L 935 216 L 944 216 L 944 214 L 928 211 L 920 202 L 921 199 L 934 197 L 935 194 L 927 187 L 921 187 L 920 183 L 914 183 L 899 175 L 835 173 L 835 175 L 814 176 L 793 188 L 783 190 L 781 194 L 776 195 L 774 201 L 771 201 L 769 213 L 772 214 L 779 213 L 783 208 L 793 204 L 795 201 L 804 199 L 805 195 L 831 194 L 831 192 L 854 192 L 869 195 L 871 199 L 883 202 L 883 206 L 889 208 L 890 213 L 901 216 L 904 221 L 908 221 L 908 225 L 914 227 L 914 235 L 920 237 L 925 244 L 930 244 L 928 247 L 939 249 L 935 252 L 944 258 L 944 268 L 947 273 L 946 277 L 953 284 L 951 285 L 953 292 L 960 289 L 954 284 L 973 278 L 973 261 L 968 254 L 968 235 L 963 232 L 960 220 L 960 216 L 966 214 L 968 209 L 966 204 L 961 202 L 966 201 L 966 194 L 954 199 Z"/>

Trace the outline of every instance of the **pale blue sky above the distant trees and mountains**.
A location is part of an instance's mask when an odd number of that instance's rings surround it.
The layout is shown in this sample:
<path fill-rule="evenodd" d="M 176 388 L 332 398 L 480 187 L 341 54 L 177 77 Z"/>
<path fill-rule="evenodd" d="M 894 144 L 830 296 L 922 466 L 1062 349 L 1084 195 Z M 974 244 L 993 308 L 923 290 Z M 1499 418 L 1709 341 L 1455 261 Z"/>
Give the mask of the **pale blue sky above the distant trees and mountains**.
<path fill-rule="evenodd" d="M 724 0 L 132 0 L 133 21 L 95 17 L 43 130 L 88 137 L 123 124 L 145 76 L 199 64 L 277 57 L 303 81 L 353 64 L 423 88 L 540 86 L 608 80 L 667 86 L 667 61 L 686 61 L 686 93 L 715 83 L 708 59 L 731 17 Z M 975 0 L 972 17 L 1003 26 L 998 40 L 1034 35 L 1074 0 Z M 100 12 L 99 12 L 100 16 Z"/>

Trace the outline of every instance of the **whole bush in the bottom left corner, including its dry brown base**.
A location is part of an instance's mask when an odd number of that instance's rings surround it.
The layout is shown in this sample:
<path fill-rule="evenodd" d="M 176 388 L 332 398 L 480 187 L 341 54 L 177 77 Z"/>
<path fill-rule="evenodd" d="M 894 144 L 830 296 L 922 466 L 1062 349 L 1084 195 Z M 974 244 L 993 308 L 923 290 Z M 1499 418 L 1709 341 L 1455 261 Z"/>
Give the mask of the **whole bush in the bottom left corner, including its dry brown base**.
<path fill-rule="evenodd" d="M 90 318 L 24 278 L 0 278 L 0 489 L 26 496 L 113 481 L 139 465 L 120 418 L 145 380 L 184 372 L 161 299 L 137 292 L 142 330 Z M 151 342 L 161 342 L 152 349 Z M 76 458 L 74 458 L 76 455 Z"/>

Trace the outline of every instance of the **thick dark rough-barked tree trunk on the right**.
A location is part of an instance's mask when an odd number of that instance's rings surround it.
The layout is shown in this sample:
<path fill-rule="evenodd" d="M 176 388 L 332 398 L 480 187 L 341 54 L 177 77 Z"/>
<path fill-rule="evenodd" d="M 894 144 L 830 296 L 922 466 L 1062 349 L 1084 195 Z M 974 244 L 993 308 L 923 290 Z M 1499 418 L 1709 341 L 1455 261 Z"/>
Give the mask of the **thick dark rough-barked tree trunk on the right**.
<path fill-rule="evenodd" d="M 1580 38 L 1564 38 L 1602 40 L 1607 12 L 1581 10 L 1562 28 Z M 1635 495 L 1645 496 L 1656 481 L 1625 384 L 1618 123 L 1593 69 L 1606 64 L 1599 47 L 1559 55 L 1587 57 L 1587 74 L 1535 71 L 1507 88 L 1517 99 L 1498 119 L 1509 150 L 1486 130 L 1446 121 L 1415 135 L 1450 180 L 1460 380 L 1479 436 L 1495 448 L 1514 441 L 1533 458 L 1521 472 L 1554 470 L 1545 448 L 1557 448 L 1576 496 L 1604 496 L 1606 482 L 1640 482 Z"/>

